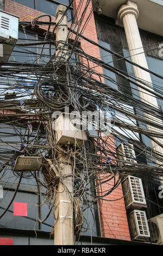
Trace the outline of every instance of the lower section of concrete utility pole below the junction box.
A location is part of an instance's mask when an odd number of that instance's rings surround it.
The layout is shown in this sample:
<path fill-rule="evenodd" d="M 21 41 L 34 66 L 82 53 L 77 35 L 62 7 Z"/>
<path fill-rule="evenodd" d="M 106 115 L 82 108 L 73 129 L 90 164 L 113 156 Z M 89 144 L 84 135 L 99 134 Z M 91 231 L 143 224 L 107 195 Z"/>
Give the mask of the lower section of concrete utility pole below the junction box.
<path fill-rule="evenodd" d="M 54 245 L 74 245 L 72 162 L 60 154 L 62 180 L 55 197 Z"/>

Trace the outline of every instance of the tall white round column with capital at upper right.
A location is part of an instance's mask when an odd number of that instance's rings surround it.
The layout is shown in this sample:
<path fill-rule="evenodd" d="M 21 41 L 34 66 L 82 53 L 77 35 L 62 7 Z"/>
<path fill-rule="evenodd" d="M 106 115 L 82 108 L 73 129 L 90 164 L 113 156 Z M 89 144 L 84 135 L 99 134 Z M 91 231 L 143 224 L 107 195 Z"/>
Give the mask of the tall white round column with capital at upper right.
<path fill-rule="evenodd" d="M 132 62 L 139 64 L 140 66 L 143 66 L 144 68 L 148 69 L 148 64 L 146 60 L 145 53 L 143 52 L 143 45 L 139 33 L 139 28 L 137 26 L 136 19 L 139 17 L 139 10 L 137 9 L 136 3 L 128 1 L 127 4 L 122 5 L 120 9 L 118 10 L 117 15 L 117 22 L 123 23 L 124 30 L 127 37 L 128 47 L 130 51 L 130 56 Z M 152 86 L 152 80 L 151 75 L 149 72 L 142 70 L 138 68 L 137 66 L 133 65 L 135 76 L 139 78 L 139 80 L 149 83 Z M 145 85 L 143 85 L 146 87 Z M 155 96 L 152 96 L 152 94 L 149 94 L 146 92 L 146 90 L 142 88 L 139 89 L 139 94 L 142 102 L 148 103 L 153 105 L 156 108 L 158 107 L 158 102 L 156 101 Z M 153 91 L 153 89 L 151 89 Z M 152 115 L 145 113 L 145 118 L 152 118 L 152 120 L 156 124 L 162 124 L 162 121 L 160 119 L 154 118 Z M 150 125 L 147 125 L 147 129 L 149 131 L 161 132 L 159 129 L 155 129 L 154 127 L 151 127 Z M 163 144 L 163 139 L 154 138 L 159 143 Z M 155 142 L 151 140 L 151 145 L 153 148 L 153 151 L 159 151 L 159 153 L 163 154 L 163 149 Z M 157 164 L 161 164 L 159 161 L 156 161 Z"/>

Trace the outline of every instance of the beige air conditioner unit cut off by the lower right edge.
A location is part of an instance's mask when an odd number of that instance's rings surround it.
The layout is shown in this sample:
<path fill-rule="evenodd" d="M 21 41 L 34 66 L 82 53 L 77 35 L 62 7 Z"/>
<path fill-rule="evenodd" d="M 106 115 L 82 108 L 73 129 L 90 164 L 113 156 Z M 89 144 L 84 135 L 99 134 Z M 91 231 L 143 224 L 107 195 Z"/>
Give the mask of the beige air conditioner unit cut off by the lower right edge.
<path fill-rule="evenodd" d="M 163 245 L 163 214 L 148 220 L 151 241 Z"/>

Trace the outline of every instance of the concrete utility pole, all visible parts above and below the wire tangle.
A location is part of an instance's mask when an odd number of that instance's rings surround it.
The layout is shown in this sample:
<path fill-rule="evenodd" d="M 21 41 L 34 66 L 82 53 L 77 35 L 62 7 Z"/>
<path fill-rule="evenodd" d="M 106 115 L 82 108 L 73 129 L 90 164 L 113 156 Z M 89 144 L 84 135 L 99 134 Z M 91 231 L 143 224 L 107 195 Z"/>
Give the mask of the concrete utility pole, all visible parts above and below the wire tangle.
<path fill-rule="evenodd" d="M 66 7 L 59 5 L 56 12 L 56 56 L 62 65 L 66 65 L 67 59 L 67 14 L 63 16 L 65 11 Z M 54 245 L 74 245 L 72 161 L 63 154 L 58 157 L 61 180 L 55 197 Z"/>

